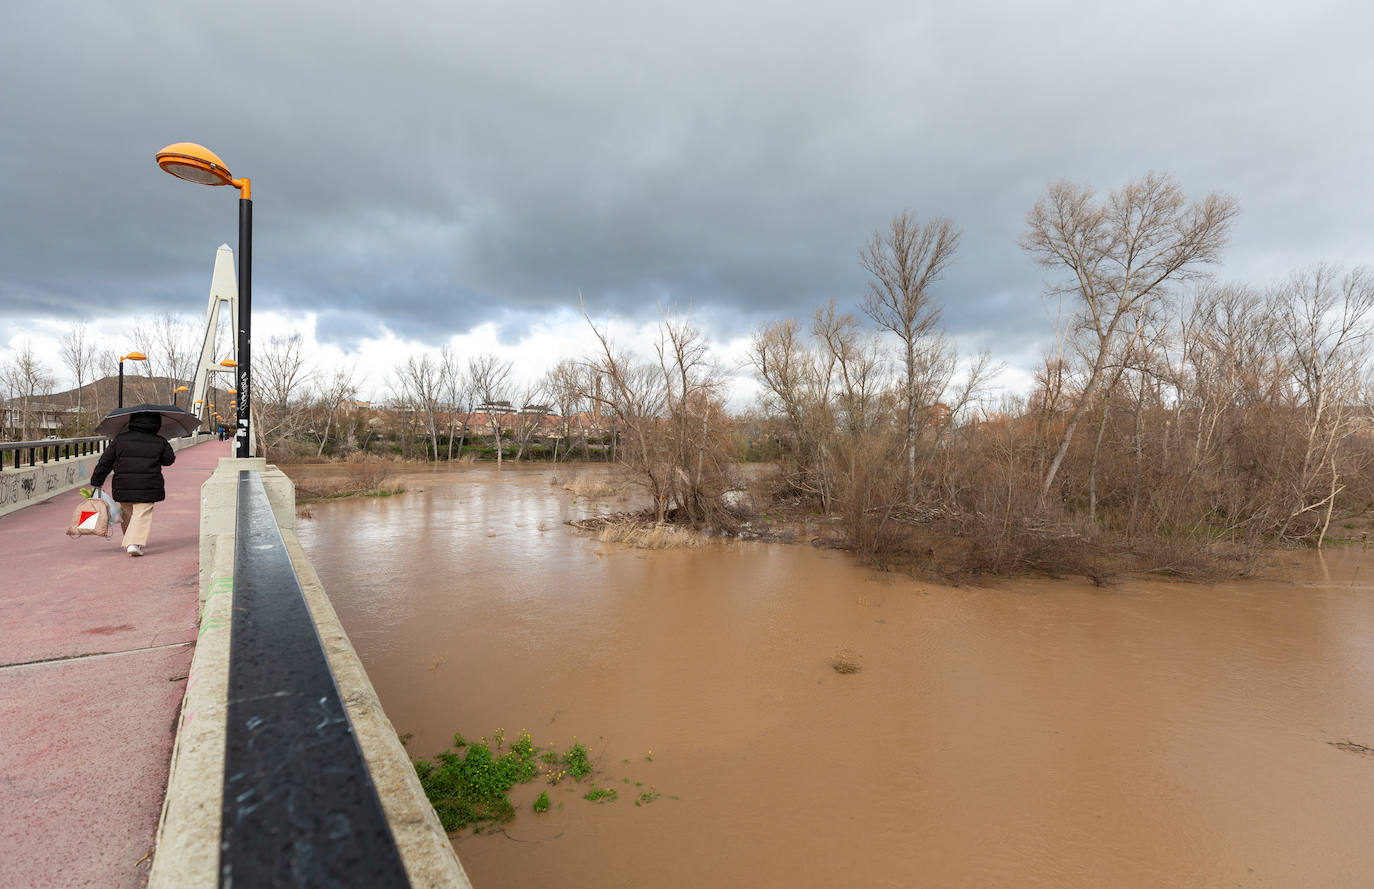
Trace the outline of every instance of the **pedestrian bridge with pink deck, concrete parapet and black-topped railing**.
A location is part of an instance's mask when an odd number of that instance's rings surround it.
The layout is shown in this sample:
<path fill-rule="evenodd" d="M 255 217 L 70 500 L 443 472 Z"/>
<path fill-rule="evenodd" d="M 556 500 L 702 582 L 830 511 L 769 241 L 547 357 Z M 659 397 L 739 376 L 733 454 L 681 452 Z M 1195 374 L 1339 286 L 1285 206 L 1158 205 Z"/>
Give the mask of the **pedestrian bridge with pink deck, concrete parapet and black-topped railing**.
<path fill-rule="evenodd" d="M 0 445 L 0 886 L 467 886 L 290 480 L 173 445 L 144 558 L 63 533 L 103 440 Z"/>

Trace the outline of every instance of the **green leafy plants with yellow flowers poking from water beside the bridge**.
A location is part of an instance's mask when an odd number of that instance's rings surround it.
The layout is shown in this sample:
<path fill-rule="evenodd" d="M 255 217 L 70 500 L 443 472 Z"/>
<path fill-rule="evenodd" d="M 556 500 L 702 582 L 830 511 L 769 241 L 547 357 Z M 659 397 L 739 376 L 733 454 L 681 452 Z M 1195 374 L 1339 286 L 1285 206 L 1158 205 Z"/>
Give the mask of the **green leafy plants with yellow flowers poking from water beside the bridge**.
<path fill-rule="evenodd" d="M 503 824 L 515 818 L 515 805 L 508 796 L 515 785 L 528 785 L 537 778 L 555 787 L 566 779 L 580 785 L 583 779 L 594 778 L 595 772 L 587 747 L 576 738 L 562 750 L 541 749 L 534 746 L 528 731 L 522 731 L 507 747 L 506 732 L 500 728 L 491 738 L 475 742 L 455 734 L 451 749 L 433 760 L 415 760 L 415 774 L 425 796 L 448 833 L 463 830 L 469 824 L 481 831 L 484 824 Z M 624 780 L 629 782 L 628 778 Z M 642 783 L 636 782 L 635 786 Z M 658 796 L 640 794 L 635 805 L 651 802 Z M 613 802 L 618 793 L 614 787 L 600 787 L 592 780 L 583 798 Z M 548 791 L 540 790 L 530 807 L 537 813 L 548 812 Z"/>

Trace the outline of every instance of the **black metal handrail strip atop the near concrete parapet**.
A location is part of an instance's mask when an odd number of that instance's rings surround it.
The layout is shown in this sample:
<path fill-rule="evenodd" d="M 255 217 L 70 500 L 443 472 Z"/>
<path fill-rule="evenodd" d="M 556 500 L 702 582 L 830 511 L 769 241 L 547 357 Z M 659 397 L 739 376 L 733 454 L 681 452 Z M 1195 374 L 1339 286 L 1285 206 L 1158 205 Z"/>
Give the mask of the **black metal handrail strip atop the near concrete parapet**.
<path fill-rule="evenodd" d="M 235 529 L 220 886 L 409 886 L 257 471 Z"/>

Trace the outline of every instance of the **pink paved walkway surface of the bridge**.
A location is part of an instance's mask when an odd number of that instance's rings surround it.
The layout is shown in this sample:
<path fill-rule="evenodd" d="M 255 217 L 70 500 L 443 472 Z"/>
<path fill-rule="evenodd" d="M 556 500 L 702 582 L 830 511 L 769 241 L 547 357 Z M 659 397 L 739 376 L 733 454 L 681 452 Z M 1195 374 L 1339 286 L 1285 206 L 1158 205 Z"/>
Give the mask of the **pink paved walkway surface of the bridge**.
<path fill-rule="evenodd" d="M 0 517 L 0 889 L 147 882 L 196 633 L 201 485 L 165 470 L 143 558 L 70 539 L 70 491 Z"/>

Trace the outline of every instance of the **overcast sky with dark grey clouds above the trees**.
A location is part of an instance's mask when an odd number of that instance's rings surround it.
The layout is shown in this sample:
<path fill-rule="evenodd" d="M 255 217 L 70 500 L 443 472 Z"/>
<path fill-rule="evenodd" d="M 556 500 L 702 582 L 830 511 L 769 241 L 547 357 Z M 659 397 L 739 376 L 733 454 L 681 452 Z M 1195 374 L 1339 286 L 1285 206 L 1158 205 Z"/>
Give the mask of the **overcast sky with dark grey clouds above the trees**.
<path fill-rule="evenodd" d="M 203 312 L 236 195 L 158 170 L 190 140 L 253 180 L 254 342 L 374 378 L 445 342 L 541 367 L 585 339 L 578 290 L 631 338 L 691 306 L 738 356 L 853 308 L 910 207 L 963 228 L 936 295 L 1015 381 L 1050 335 L 1017 238 L 1055 179 L 1234 195 L 1226 279 L 1374 262 L 1370 34 L 1353 0 L 14 4 L 0 360 Z"/>

